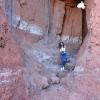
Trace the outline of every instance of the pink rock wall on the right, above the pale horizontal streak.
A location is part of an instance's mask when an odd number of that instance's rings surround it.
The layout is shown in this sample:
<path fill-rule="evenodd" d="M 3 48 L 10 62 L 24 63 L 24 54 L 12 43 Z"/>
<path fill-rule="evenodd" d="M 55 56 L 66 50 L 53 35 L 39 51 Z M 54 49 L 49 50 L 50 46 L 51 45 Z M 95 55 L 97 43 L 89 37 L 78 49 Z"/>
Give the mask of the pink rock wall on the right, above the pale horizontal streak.
<path fill-rule="evenodd" d="M 78 55 L 78 66 L 94 70 L 100 69 L 100 6 L 99 0 L 86 3 L 88 34 Z"/>

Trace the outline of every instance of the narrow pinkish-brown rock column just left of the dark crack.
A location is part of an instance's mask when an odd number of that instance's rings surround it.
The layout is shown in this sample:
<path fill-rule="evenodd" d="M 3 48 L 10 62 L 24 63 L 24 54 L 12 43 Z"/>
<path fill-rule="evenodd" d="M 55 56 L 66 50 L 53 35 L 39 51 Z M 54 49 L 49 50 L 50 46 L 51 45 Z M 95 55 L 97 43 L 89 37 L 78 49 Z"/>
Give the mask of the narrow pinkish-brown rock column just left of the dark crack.
<path fill-rule="evenodd" d="M 65 2 L 60 0 L 55 0 L 53 4 L 53 10 L 52 10 L 52 28 L 51 28 L 51 34 L 52 37 L 55 37 L 57 34 L 62 33 L 62 25 L 63 25 L 63 17 L 65 14 Z"/>

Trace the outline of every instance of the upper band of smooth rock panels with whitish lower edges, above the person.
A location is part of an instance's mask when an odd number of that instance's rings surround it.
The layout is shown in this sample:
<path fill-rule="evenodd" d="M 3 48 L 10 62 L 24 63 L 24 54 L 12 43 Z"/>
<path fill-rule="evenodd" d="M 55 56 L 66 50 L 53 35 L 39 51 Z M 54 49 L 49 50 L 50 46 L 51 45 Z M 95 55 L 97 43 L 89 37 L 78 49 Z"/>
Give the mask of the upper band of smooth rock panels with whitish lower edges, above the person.
<path fill-rule="evenodd" d="M 11 0 L 8 1 L 11 2 Z M 50 34 L 54 39 L 59 34 L 67 42 L 80 44 L 82 11 L 74 8 L 73 1 L 17 0 L 13 8 L 15 9 L 13 18 L 15 27 L 32 34 Z"/>

